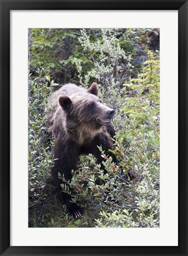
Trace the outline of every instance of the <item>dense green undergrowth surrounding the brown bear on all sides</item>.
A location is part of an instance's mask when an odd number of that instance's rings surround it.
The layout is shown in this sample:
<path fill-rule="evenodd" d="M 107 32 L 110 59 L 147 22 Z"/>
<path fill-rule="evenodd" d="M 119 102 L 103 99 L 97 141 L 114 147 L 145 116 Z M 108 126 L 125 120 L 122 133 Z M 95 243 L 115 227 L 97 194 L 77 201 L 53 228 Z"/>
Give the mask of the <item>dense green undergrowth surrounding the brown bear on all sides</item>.
<path fill-rule="evenodd" d="M 127 227 L 155 228 L 160 222 L 160 105 L 159 105 L 159 63 L 158 49 L 155 52 L 146 37 L 154 40 L 155 30 L 51 30 L 56 32 L 50 61 L 57 57 L 54 52 L 62 50 L 62 43 L 69 37 L 70 56 L 66 59 L 66 49 L 54 70 L 47 70 L 44 56 L 33 57 L 30 70 L 29 98 L 29 226 L 30 227 Z M 36 31 L 30 31 L 36 33 Z M 45 31 L 33 34 L 30 55 L 35 56 L 41 49 L 41 41 L 52 40 Z M 63 34 L 64 32 L 64 34 Z M 66 33 L 65 33 L 66 32 Z M 68 33 L 69 32 L 69 33 Z M 151 33 L 154 33 L 151 36 Z M 157 32 L 156 32 L 157 33 Z M 61 35 L 61 40 L 60 36 Z M 63 37 L 64 35 L 64 37 Z M 156 34 L 155 34 L 156 36 Z M 151 40 L 152 39 L 152 40 Z M 40 41 L 41 40 L 41 41 Z M 156 39 L 155 39 L 156 40 Z M 34 47 L 34 43 L 38 43 Z M 142 54 L 147 61 L 141 66 L 133 66 L 132 59 L 137 57 L 140 43 Z M 51 47 L 52 46 L 52 47 Z M 80 53 L 82 49 L 82 55 Z M 61 53 L 62 54 L 62 53 Z M 87 65 L 88 64 L 88 65 Z M 113 120 L 116 136 L 115 151 L 119 163 L 103 155 L 104 174 L 92 155 L 80 158 L 69 186 L 76 194 L 72 200 L 80 204 L 85 213 L 80 219 L 71 219 L 65 207 L 58 200 L 51 183 L 50 169 L 53 167 L 53 145 L 47 132 L 47 98 L 61 85 L 56 68 L 67 65 L 75 70 L 73 82 L 89 87 L 97 81 L 100 97 L 115 109 Z M 39 67 L 39 68 L 38 68 Z M 32 72 L 32 70 L 34 70 Z M 68 77 L 71 76 L 69 73 Z M 66 81 L 63 78 L 62 81 Z M 70 79 L 70 78 L 69 78 Z M 76 79 L 76 81 L 74 81 Z M 66 81 L 68 82 L 68 81 Z M 62 82 L 63 83 L 63 82 Z M 49 106 L 48 106 L 49 107 Z M 62 186 L 69 193 L 69 187 Z"/>

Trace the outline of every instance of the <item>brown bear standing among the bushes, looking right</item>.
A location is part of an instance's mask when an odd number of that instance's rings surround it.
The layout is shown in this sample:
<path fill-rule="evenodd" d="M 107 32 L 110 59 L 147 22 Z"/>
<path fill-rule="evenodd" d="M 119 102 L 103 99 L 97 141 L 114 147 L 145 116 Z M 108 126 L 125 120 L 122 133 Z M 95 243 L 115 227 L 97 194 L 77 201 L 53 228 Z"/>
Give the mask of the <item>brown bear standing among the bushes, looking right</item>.
<path fill-rule="evenodd" d="M 81 154 L 92 153 L 98 163 L 102 162 L 98 146 L 102 146 L 106 154 L 112 156 L 112 161 L 116 162 L 115 156 L 108 152 L 108 149 L 114 149 L 112 137 L 115 130 L 111 124 L 114 110 L 102 103 L 98 92 L 96 82 L 87 90 L 67 84 L 54 92 L 48 100 L 48 104 L 53 105 L 49 119 L 50 131 L 55 139 L 52 175 L 59 188 L 62 181 L 58 178 L 58 172 L 66 180 L 71 180 L 71 171 L 76 169 Z M 70 215 L 79 216 L 82 209 L 70 202 L 71 196 L 66 193 L 61 195 Z"/>

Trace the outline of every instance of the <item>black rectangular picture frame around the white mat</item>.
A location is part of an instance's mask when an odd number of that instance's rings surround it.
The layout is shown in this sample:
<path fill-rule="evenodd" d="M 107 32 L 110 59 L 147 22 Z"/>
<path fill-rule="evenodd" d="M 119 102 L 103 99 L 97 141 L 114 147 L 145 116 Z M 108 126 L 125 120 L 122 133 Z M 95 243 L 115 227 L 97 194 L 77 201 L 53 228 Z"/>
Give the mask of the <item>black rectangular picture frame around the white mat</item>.
<path fill-rule="evenodd" d="M 1 255 L 188 255 L 187 254 L 187 0 L 0 0 L 1 6 Z M 10 11 L 54 9 L 178 10 L 179 43 L 179 243 L 177 247 L 10 246 Z M 170 24 L 169 24 L 170 25 Z M 170 41 L 169 41 L 170 43 Z M 173 53 L 172 53 L 173 54 Z M 172 159 L 173 161 L 173 159 Z M 173 211 L 170 212 L 173 214 Z M 172 223 L 173 225 L 173 223 Z"/>

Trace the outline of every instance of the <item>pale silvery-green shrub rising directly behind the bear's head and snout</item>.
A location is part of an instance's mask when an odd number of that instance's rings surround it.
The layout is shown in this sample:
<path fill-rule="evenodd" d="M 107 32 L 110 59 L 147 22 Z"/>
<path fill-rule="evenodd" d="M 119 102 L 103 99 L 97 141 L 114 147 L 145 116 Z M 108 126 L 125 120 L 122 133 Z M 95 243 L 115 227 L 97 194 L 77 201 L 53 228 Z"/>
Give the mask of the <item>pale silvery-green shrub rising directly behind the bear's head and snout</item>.
<path fill-rule="evenodd" d="M 80 30 L 79 42 L 83 52 L 93 62 L 93 68 L 83 75 L 82 62 L 75 59 L 80 84 L 96 80 L 101 87 L 101 96 L 105 95 L 106 104 L 118 109 L 116 97 L 121 101 L 122 84 L 131 72 L 131 54 L 121 48 L 119 39 L 112 29 L 101 29 L 100 37 L 93 41 L 88 31 Z"/>

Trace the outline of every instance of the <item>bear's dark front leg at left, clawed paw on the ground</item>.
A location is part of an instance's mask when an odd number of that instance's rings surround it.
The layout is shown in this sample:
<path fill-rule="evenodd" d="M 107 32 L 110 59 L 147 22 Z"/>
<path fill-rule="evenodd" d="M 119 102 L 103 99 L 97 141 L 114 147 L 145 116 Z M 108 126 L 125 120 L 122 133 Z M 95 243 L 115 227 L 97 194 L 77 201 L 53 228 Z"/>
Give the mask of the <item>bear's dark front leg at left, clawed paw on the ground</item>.
<path fill-rule="evenodd" d="M 61 151 L 59 151 L 60 148 Z M 57 185 L 58 190 L 61 190 L 60 184 L 66 184 L 66 182 L 63 182 L 60 178 L 58 178 L 58 173 L 60 172 L 60 174 L 64 176 L 66 181 L 71 181 L 72 169 L 76 169 L 76 162 L 79 156 L 79 153 L 75 150 L 76 147 L 74 147 L 73 145 L 70 148 L 60 148 L 57 148 L 55 145 L 54 168 L 52 170 L 52 175 L 54 177 L 54 181 Z M 74 190 L 72 188 L 69 188 L 69 190 L 70 193 L 74 193 Z M 77 206 L 76 203 L 70 202 L 71 199 L 71 194 L 64 193 L 61 190 L 61 201 L 63 201 L 64 204 L 66 204 L 69 214 L 72 215 L 73 217 L 79 217 L 83 213 L 83 210 L 79 206 Z"/>

